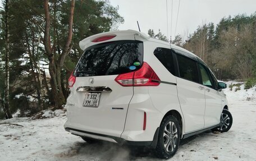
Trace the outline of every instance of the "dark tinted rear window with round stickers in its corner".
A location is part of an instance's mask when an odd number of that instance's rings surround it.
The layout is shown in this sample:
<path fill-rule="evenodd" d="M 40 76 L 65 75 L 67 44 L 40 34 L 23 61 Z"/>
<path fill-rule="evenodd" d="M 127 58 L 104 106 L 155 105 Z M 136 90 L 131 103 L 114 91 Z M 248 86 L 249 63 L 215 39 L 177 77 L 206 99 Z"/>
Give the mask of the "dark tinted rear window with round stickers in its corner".
<path fill-rule="evenodd" d="M 138 70 L 143 63 L 143 42 L 122 40 L 85 49 L 75 76 L 119 75 Z"/>

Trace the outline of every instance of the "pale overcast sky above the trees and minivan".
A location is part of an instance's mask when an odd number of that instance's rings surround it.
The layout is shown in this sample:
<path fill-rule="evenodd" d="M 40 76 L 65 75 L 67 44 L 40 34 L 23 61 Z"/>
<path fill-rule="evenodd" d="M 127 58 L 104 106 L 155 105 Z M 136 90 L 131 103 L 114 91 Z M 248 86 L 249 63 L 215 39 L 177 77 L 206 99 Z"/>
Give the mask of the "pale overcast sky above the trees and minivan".
<path fill-rule="evenodd" d="M 158 33 L 160 29 L 168 38 L 172 36 L 172 40 L 177 34 L 186 38 L 204 23 L 218 24 L 223 17 L 239 13 L 251 15 L 256 11 L 256 0 L 167 0 L 167 10 L 166 0 L 110 0 L 110 3 L 118 6 L 118 13 L 124 17 L 125 22 L 119 30 L 138 30 L 136 21 L 139 21 L 143 33 L 148 33 L 149 29 Z"/>

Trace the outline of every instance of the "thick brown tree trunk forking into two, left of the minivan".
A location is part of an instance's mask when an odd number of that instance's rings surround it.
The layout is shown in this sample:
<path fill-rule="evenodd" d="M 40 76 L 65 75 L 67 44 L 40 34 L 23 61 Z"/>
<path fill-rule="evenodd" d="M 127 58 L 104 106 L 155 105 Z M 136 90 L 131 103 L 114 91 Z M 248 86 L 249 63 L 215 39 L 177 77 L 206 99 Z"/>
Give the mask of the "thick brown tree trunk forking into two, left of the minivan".
<path fill-rule="evenodd" d="M 51 37 L 50 37 L 50 12 L 48 0 L 44 0 L 44 13 L 45 13 L 45 29 L 44 29 L 44 47 L 49 59 L 49 73 L 51 75 L 51 86 L 52 86 L 52 95 L 54 99 L 54 108 L 62 108 L 62 105 L 65 104 L 66 99 L 63 95 L 61 88 L 61 69 L 65 61 L 67 54 L 72 49 L 71 40 L 72 40 L 72 24 L 74 16 L 75 0 L 71 1 L 70 7 L 70 17 L 68 21 L 68 36 L 66 40 L 65 47 L 62 49 L 60 56 L 57 59 L 56 50 L 54 52 L 51 47 Z M 53 47 L 55 48 L 55 47 Z M 57 62 L 55 62 L 57 59 Z"/>

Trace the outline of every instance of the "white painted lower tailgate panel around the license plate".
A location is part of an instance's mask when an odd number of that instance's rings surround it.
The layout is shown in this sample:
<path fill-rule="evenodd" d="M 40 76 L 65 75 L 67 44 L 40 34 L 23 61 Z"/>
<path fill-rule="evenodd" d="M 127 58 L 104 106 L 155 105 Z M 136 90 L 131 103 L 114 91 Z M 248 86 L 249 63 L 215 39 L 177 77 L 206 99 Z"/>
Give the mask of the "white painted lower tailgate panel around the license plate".
<path fill-rule="evenodd" d="M 115 81 L 117 75 L 76 77 L 72 94 L 67 102 L 68 119 L 65 127 L 75 128 L 104 135 L 120 137 L 124 130 L 128 104 L 131 100 L 132 87 L 123 87 Z M 89 79 L 94 79 L 93 86 L 108 86 L 111 93 L 101 93 L 99 107 L 84 107 L 85 93 L 74 91 L 79 86 L 90 86 Z M 123 109 L 112 109 L 123 108 Z"/>

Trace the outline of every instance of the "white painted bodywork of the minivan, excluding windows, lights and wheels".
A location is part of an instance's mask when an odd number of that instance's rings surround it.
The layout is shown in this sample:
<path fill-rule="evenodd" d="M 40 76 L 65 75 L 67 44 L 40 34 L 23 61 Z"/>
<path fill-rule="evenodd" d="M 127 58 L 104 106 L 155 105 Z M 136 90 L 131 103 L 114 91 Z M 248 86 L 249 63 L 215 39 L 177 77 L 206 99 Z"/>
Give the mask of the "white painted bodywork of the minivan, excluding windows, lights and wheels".
<path fill-rule="evenodd" d="M 111 34 L 115 33 L 112 32 Z M 108 34 L 99 34 L 92 38 Z M 129 141 L 152 141 L 163 116 L 171 110 L 175 110 L 181 115 L 182 135 L 216 125 L 220 121 L 223 104 L 227 104 L 226 101 L 221 101 L 226 100 L 225 95 L 222 92 L 218 92 L 220 95 L 211 92 L 205 95 L 205 88 L 207 87 L 173 76 L 153 54 L 157 47 L 168 49 L 172 47 L 195 56 L 193 53 L 175 45 L 170 47 L 170 44 L 166 42 L 148 38 L 137 31 L 118 31 L 116 34 L 119 35 L 113 40 L 132 40 L 135 38 L 143 41 L 144 61 L 153 68 L 161 81 L 174 83 L 177 86 L 161 83 L 158 86 L 133 88 L 117 84 L 115 82 L 117 75 L 77 77 L 67 99 L 68 120 L 65 127 L 122 137 Z M 90 39 L 83 40 L 84 47 L 92 45 L 90 41 L 88 42 Z M 98 108 L 83 107 L 85 94 L 75 91 L 79 86 L 90 86 L 90 78 L 94 78 L 93 86 L 108 86 L 112 89 L 111 93 L 102 93 Z M 204 89 L 199 89 L 199 86 L 203 86 Z M 205 98 L 208 99 L 207 102 L 205 102 Z M 220 103 L 216 103 L 217 99 Z M 205 103 L 207 104 L 206 108 Z M 146 130 L 143 130 L 144 112 L 147 113 Z M 204 120 L 206 121 L 205 125 Z"/>

